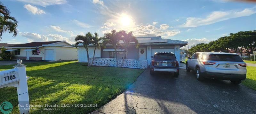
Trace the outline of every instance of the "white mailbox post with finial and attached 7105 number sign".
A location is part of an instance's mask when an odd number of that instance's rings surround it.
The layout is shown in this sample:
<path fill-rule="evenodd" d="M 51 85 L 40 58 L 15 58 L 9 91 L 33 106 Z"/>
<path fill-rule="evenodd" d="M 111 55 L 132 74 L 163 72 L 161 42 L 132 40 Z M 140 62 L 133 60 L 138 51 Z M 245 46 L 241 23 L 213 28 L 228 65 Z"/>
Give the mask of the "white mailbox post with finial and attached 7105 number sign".
<path fill-rule="evenodd" d="M 17 60 L 14 69 L 0 71 L 0 88 L 17 87 L 20 114 L 29 113 L 28 83 L 26 65 L 21 64 L 22 60 Z"/>

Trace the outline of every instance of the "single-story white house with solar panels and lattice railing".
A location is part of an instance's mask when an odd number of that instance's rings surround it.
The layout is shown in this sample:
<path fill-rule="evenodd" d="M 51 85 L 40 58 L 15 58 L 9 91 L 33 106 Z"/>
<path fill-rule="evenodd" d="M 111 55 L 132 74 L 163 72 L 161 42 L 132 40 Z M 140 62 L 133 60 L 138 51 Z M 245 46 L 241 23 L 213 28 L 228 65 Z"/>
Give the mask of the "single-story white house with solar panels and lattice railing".
<path fill-rule="evenodd" d="M 171 40 L 171 39 L 163 39 L 161 36 L 158 37 L 137 37 L 140 46 L 139 48 L 135 48 L 134 43 L 128 47 L 128 50 L 125 52 L 125 63 L 131 68 L 140 68 L 148 66 L 151 61 L 151 56 L 154 55 L 155 52 L 173 52 L 176 55 L 178 61 L 180 61 L 180 47 L 183 47 L 188 44 L 185 41 L 179 40 Z M 122 41 L 120 41 L 122 44 Z M 78 52 L 78 61 L 79 62 L 87 62 L 87 54 L 86 50 L 82 44 L 78 44 L 79 52 Z M 94 46 L 89 45 L 89 58 L 93 57 Z M 94 60 L 95 64 L 102 66 L 115 66 L 116 59 L 123 58 L 124 48 L 117 48 L 117 57 L 115 57 L 115 50 L 111 44 L 107 45 L 105 49 L 100 47 L 100 49 L 96 48 Z M 99 62 L 98 62 L 99 61 Z M 111 64 L 109 63 L 111 61 Z M 118 60 L 119 61 L 119 60 Z M 90 62 L 90 60 L 89 60 Z M 97 63 L 98 62 L 98 63 Z M 118 64 L 121 62 L 118 62 Z M 140 65 L 138 65 L 140 63 Z M 143 63 L 143 64 L 142 64 Z"/>

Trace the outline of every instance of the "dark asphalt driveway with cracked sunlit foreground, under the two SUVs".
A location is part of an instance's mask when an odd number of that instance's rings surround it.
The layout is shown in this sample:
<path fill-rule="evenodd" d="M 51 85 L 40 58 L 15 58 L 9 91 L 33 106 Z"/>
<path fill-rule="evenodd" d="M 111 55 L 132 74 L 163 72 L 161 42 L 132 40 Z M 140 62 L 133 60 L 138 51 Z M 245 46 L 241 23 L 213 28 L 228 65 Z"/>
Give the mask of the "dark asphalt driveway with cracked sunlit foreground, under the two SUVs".
<path fill-rule="evenodd" d="M 256 91 L 229 81 L 196 80 L 194 72 L 180 69 L 180 76 L 146 69 L 130 88 L 93 114 L 207 114 L 256 113 Z"/>

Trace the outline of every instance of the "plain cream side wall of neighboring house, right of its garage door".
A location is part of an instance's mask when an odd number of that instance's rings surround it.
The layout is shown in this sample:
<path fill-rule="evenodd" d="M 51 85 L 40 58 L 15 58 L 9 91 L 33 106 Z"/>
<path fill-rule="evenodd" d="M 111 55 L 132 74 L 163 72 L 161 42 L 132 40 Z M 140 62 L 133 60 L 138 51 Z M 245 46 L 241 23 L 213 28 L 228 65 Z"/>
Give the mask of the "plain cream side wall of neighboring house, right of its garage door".
<path fill-rule="evenodd" d="M 77 59 L 77 49 L 69 47 L 56 47 L 56 61 Z"/>

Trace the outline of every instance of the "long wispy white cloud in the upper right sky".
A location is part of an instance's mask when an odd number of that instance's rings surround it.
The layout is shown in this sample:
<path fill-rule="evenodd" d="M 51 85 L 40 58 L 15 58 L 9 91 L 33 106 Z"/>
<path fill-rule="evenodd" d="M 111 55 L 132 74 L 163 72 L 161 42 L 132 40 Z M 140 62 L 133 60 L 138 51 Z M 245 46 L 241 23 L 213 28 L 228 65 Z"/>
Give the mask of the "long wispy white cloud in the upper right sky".
<path fill-rule="evenodd" d="M 256 13 L 255 9 L 256 7 L 246 8 L 244 10 L 214 11 L 205 18 L 188 17 L 187 22 L 180 25 L 180 27 L 197 27 L 228 20 L 230 18 L 250 16 Z"/>

